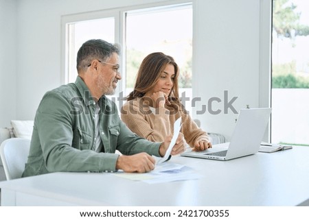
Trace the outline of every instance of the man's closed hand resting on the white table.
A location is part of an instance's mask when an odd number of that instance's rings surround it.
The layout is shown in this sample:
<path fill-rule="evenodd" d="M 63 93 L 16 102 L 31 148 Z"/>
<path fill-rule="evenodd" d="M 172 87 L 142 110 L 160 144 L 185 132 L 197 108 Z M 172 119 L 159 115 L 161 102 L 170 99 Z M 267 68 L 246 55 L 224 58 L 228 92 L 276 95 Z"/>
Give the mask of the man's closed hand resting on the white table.
<path fill-rule="evenodd" d="M 116 169 L 122 169 L 128 173 L 146 173 L 155 169 L 155 158 L 146 153 L 119 156 L 116 162 Z"/>

